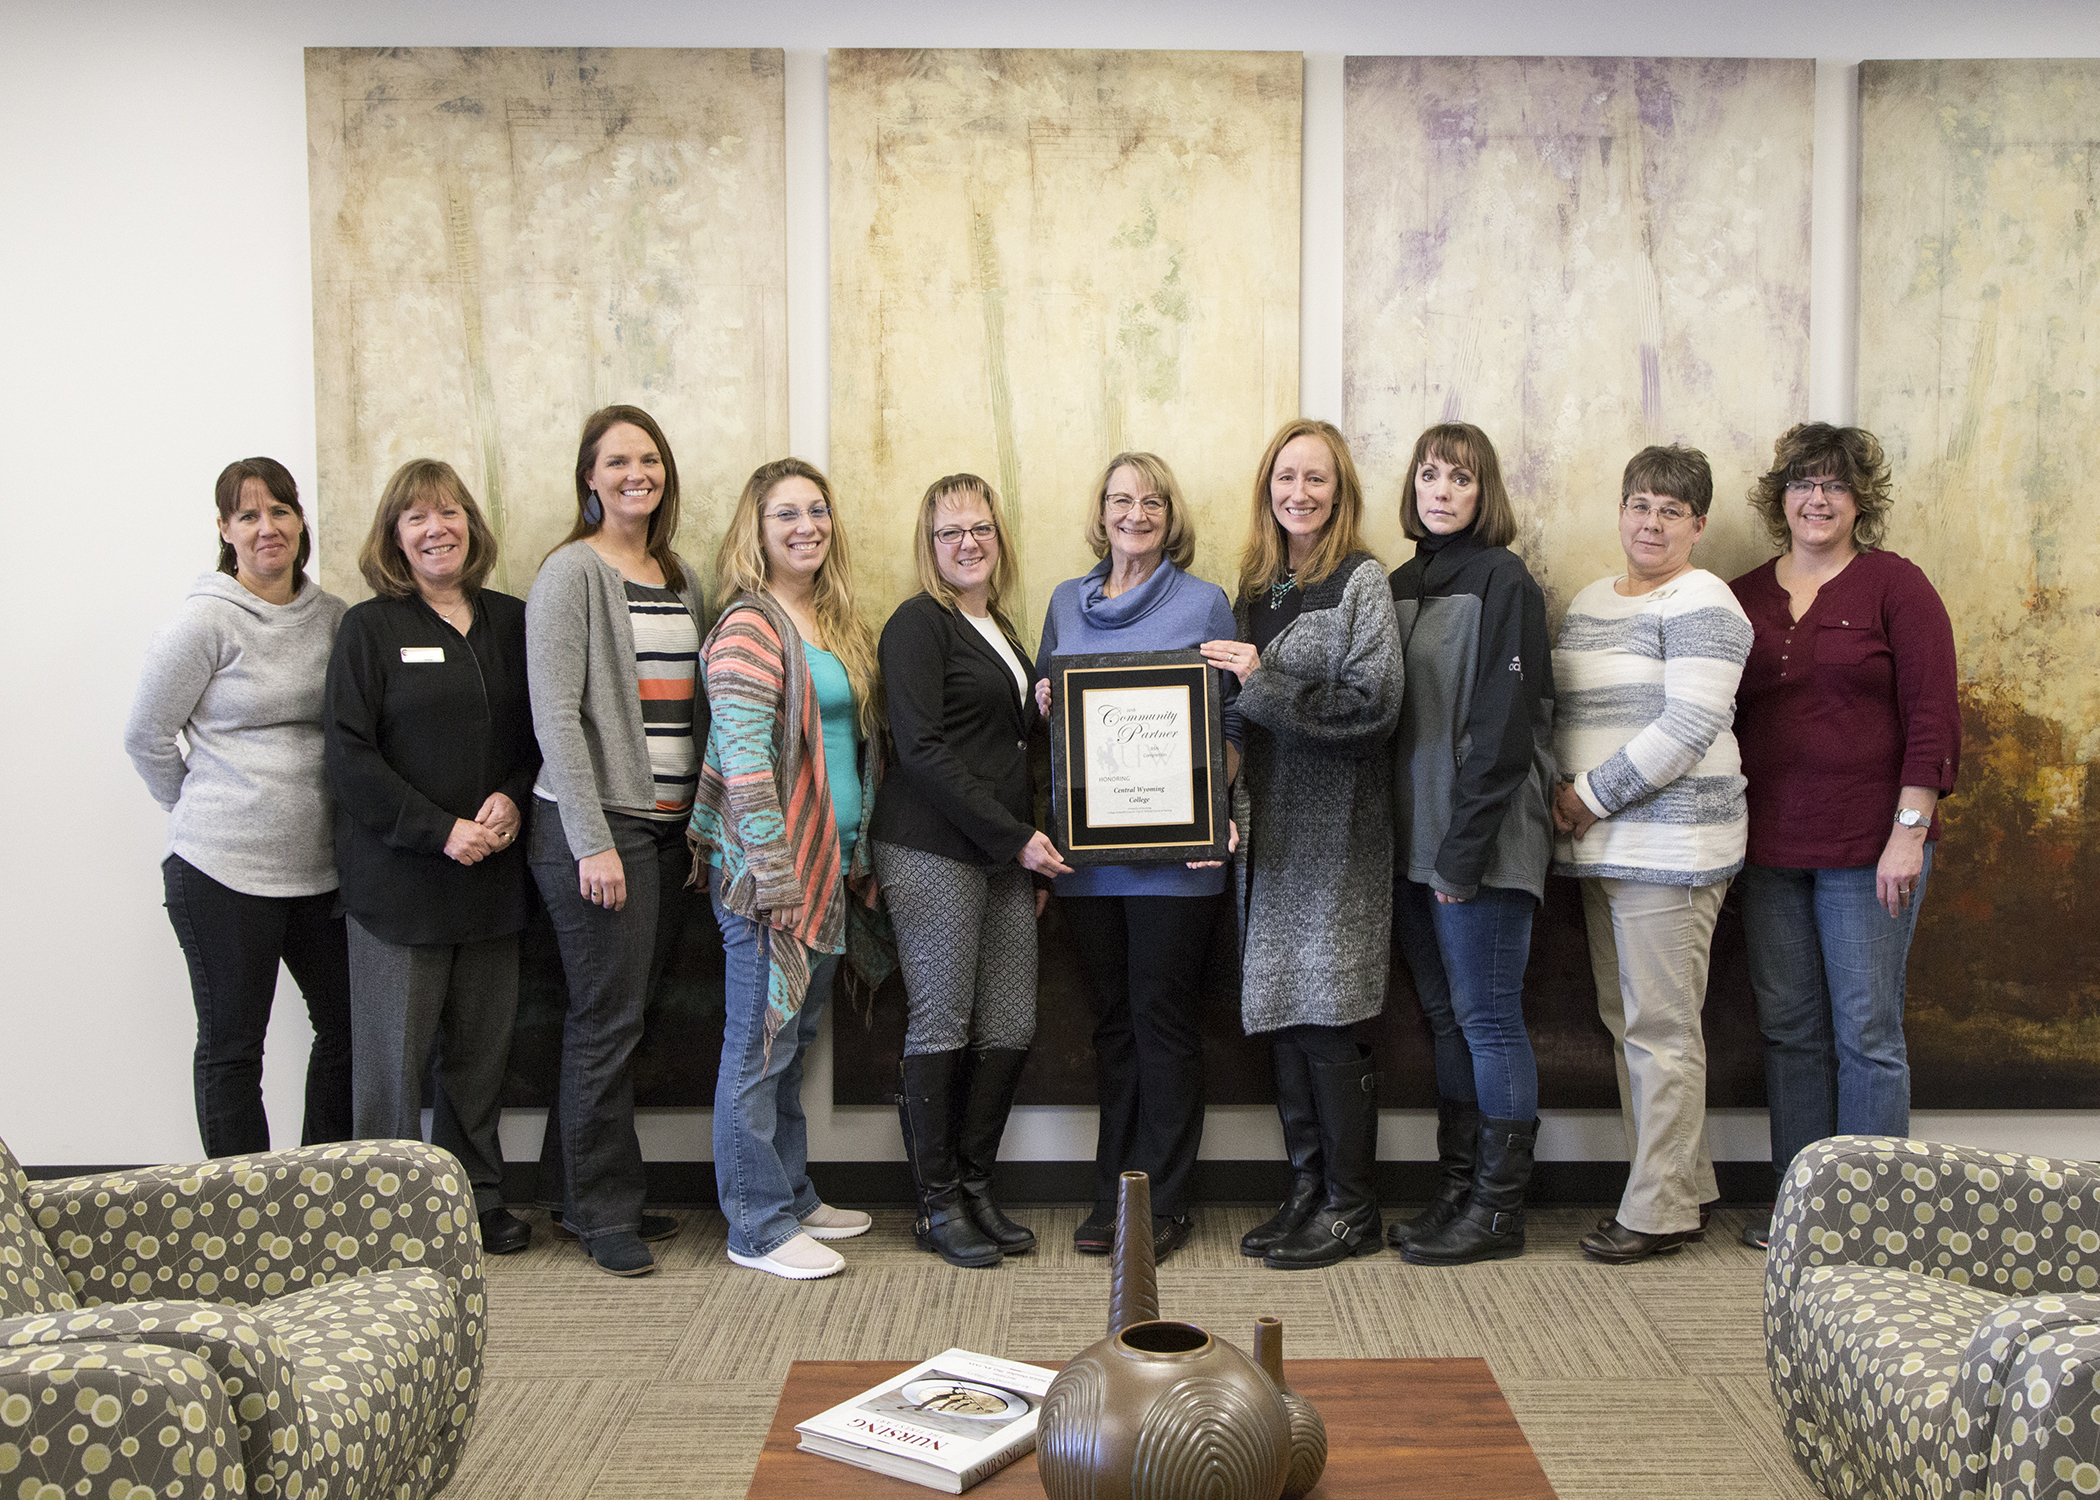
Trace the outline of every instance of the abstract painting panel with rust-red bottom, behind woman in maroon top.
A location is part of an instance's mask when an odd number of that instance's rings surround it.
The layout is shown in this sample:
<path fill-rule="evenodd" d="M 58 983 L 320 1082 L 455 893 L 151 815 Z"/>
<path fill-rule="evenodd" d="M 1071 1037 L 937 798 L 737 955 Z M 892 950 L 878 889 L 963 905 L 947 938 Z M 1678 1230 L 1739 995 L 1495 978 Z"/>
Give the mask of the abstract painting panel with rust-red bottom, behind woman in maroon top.
<path fill-rule="evenodd" d="M 1961 786 L 1919 1103 L 2100 1105 L 2100 61 L 1861 67 L 1858 418 L 1938 586 Z"/>

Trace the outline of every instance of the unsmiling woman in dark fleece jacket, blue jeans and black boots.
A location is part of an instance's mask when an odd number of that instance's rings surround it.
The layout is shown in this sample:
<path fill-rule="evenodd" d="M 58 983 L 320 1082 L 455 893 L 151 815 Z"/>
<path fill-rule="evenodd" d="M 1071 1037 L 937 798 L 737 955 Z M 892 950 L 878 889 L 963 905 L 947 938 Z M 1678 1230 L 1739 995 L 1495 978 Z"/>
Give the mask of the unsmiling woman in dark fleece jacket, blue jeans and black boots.
<path fill-rule="evenodd" d="M 1415 441 L 1392 574 L 1407 660 L 1394 742 L 1392 935 L 1436 1036 L 1438 1189 L 1388 1229 L 1415 1265 L 1525 1248 L 1539 1069 L 1525 1032 L 1531 918 L 1552 859 L 1546 597 L 1508 548 L 1516 517 L 1487 433 Z"/>

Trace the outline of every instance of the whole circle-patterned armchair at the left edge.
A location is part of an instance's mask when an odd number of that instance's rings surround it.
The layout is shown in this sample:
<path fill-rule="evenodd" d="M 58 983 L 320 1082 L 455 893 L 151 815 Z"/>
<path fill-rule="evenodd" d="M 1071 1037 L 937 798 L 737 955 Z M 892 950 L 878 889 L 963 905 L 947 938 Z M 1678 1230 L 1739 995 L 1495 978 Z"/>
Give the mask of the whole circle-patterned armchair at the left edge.
<path fill-rule="evenodd" d="M 433 1496 L 472 1426 L 483 1313 L 445 1151 L 29 1183 L 0 1143 L 0 1494 Z"/>

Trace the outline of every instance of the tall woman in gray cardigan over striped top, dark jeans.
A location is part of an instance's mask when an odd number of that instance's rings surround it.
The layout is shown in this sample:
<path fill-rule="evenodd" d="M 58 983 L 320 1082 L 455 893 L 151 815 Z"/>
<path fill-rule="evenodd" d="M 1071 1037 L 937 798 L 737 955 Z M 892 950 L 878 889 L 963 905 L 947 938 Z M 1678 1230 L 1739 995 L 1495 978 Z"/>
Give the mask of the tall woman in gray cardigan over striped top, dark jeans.
<path fill-rule="evenodd" d="M 556 1231 L 611 1275 L 655 1269 L 645 1239 L 634 1046 L 649 989 L 691 905 L 685 819 L 699 784 L 693 685 L 708 632 L 699 574 L 672 553 L 678 464 L 655 420 L 609 405 L 584 422 L 575 525 L 525 601 L 540 737 L 527 861 L 569 979 L 561 1084 L 540 1151 Z"/>

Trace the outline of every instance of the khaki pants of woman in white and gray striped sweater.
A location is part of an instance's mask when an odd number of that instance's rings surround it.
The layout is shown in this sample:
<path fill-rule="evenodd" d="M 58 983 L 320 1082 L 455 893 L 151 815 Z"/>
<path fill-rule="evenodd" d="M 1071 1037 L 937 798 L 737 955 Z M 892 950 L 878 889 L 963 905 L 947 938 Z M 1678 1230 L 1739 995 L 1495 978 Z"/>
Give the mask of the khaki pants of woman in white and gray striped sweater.
<path fill-rule="evenodd" d="M 1596 1013 L 1617 1042 L 1632 1170 L 1619 1223 L 1644 1235 L 1699 1227 L 1720 1197 L 1705 1132 L 1705 1008 L 1714 920 L 1728 882 L 1583 880 Z"/>

